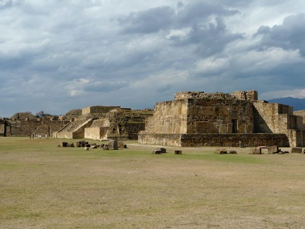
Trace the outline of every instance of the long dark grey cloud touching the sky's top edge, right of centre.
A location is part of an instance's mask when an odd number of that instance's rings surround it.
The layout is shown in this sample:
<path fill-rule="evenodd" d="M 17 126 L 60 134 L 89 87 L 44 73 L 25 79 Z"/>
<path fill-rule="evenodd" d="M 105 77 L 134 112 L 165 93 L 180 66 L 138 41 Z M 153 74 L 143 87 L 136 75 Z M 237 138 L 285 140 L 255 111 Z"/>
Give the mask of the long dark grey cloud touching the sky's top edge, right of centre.
<path fill-rule="evenodd" d="M 211 15 L 229 16 L 238 13 L 237 10 L 227 10 L 220 5 L 202 1 L 194 1 L 186 6 L 177 3 L 178 11 L 163 6 L 153 9 L 132 12 L 118 19 L 125 34 L 149 34 L 169 28 L 183 28 L 197 23 L 204 23 Z"/>

